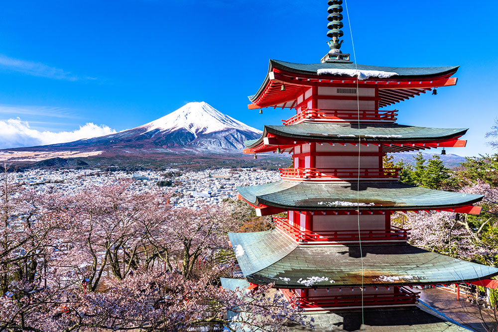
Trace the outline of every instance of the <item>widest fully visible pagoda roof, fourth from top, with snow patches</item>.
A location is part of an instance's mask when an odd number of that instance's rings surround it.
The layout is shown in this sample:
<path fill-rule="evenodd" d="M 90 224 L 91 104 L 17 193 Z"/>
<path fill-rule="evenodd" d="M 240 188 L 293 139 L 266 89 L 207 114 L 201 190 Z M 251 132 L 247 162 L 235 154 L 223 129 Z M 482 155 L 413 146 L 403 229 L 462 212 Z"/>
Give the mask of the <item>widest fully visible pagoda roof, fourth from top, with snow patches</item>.
<path fill-rule="evenodd" d="M 406 243 L 308 246 L 277 229 L 229 233 L 229 237 L 248 281 L 274 283 L 276 288 L 451 284 L 498 274 L 498 268 Z"/>

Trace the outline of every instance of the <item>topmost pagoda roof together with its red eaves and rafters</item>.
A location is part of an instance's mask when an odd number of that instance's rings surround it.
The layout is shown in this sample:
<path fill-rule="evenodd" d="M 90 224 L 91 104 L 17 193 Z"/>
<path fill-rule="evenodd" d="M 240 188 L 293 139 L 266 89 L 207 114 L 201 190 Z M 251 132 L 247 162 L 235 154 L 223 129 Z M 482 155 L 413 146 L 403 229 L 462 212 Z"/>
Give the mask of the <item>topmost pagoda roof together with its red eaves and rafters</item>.
<path fill-rule="evenodd" d="M 412 95 L 418 95 L 420 93 L 425 93 L 425 91 L 430 90 L 431 88 L 447 86 L 447 85 L 455 85 L 456 79 L 449 79 L 450 76 L 456 73 L 458 70 L 458 66 L 448 66 L 448 67 L 379 67 L 379 66 L 368 66 L 368 65 L 355 65 L 351 63 L 315 63 L 315 64 L 300 64 L 300 63 L 291 63 L 279 60 L 270 60 L 268 66 L 268 72 L 264 79 L 263 84 L 256 92 L 256 94 L 249 96 L 249 100 L 257 105 L 258 107 L 264 108 L 269 106 L 278 106 L 278 107 L 291 107 L 285 104 L 285 102 L 292 100 L 298 94 L 302 93 L 302 90 L 299 86 L 306 86 L 306 81 L 319 81 L 319 80 L 330 80 L 335 79 L 339 80 L 338 82 L 354 83 L 356 82 L 356 78 L 352 76 L 353 71 L 365 72 L 365 73 L 389 73 L 388 77 L 371 77 L 366 80 L 361 80 L 360 82 L 369 83 L 373 82 L 374 84 L 381 83 L 378 85 L 381 89 L 407 89 L 403 90 Z M 335 71 L 334 75 L 331 74 L 318 74 L 319 70 L 333 70 Z M 350 72 L 348 72 L 350 71 Z M 292 77 L 284 77 L 284 76 L 293 76 L 295 80 L 292 80 Z M 448 80 L 449 79 L 449 80 Z M 342 81 L 341 81 L 342 80 Z M 258 100 L 258 98 L 263 94 L 263 92 L 270 93 L 269 83 L 272 83 L 272 86 L 275 91 L 271 90 L 271 94 L 276 92 L 280 93 L 280 84 L 281 82 L 286 82 L 286 84 L 290 84 L 290 89 L 285 94 L 279 94 L 280 97 L 271 97 L 267 101 Z M 347 81 L 347 82 L 346 82 Z M 402 81 L 413 81 L 409 85 L 397 85 L 392 84 L 392 82 L 402 82 Z M 389 85 L 387 82 L 391 82 Z M 310 82 L 312 83 L 312 82 Z M 387 83 L 387 85 L 384 85 Z M 296 90 L 297 89 L 297 90 Z M 395 96 L 390 97 L 395 98 Z M 275 95 L 276 96 L 276 95 Z M 391 98 L 392 99 L 392 98 Z M 398 101 L 403 100 L 402 98 Z M 282 104 L 283 103 L 283 104 Z M 383 100 L 380 103 L 382 106 L 393 104 L 392 101 Z"/>

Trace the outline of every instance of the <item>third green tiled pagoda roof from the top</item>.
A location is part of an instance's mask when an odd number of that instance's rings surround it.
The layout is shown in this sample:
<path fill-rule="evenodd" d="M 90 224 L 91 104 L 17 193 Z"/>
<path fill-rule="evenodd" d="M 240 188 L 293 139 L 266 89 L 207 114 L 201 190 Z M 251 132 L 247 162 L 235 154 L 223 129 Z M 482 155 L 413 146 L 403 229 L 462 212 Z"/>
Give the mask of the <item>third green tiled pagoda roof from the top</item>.
<path fill-rule="evenodd" d="M 447 209 L 471 205 L 484 197 L 421 188 L 397 181 L 360 182 L 359 191 L 357 182 L 286 180 L 237 187 L 237 190 L 251 204 L 288 210 Z"/>

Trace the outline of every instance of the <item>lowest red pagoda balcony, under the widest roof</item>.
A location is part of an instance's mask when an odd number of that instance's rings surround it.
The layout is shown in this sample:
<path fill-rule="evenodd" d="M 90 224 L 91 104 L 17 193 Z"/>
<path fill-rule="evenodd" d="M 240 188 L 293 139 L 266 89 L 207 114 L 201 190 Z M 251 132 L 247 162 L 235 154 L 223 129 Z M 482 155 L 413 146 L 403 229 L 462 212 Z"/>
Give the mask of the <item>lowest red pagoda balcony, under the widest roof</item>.
<path fill-rule="evenodd" d="M 399 288 L 399 292 L 394 294 L 364 294 L 361 295 L 344 295 L 344 296 L 315 296 L 300 297 L 289 290 L 281 290 L 287 297 L 296 297 L 300 306 L 307 311 L 322 309 L 339 309 L 361 307 L 379 307 L 379 306 L 396 306 L 415 304 L 419 298 L 419 292 L 413 292 L 404 287 Z M 291 293 L 291 294 L 289 294 Z M 362 303 L 363 302 L 363 303 Z"/>

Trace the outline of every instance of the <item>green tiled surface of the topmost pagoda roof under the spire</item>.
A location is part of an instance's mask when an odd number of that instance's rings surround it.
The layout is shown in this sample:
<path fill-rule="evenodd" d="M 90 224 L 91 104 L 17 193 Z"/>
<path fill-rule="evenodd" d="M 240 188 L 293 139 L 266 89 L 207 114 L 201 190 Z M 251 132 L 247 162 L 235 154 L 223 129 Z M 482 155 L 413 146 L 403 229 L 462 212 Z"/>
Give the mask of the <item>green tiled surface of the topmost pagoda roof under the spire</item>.
<path fill-rule="evenodd" d="M 268 67 L 268 73 L 276 69 L 283 69 L 288 72 L 296 74 L 305 75 L 316 75 L 318 69 L 358 69 L 358 70 L 378 70 L 384 72 L 395 72 L 398 75 L 392 76 L 395 79 L 408 79 L 408 78 L 429 78 L 429 77 L 439 77 L 446 75 L 453 75 L 457 70 L 458 66 L 449 67 L 377 67 L 368 65 L 355 65 L 354 63 L 313 63 L 313 64 L 302 64 L 302 63 L 291 63 L 279 60 L 270 60 Z M 328 75 L 320 75 L 327 77 Z M 258 92 L 249 96 L 249 100 L 252 102 L 257 96 L 263 91 L 264 87 L 268 83 L 268 75 L 259 88 Z M 377 79 L 381 81 L 381 79 Z"/>

